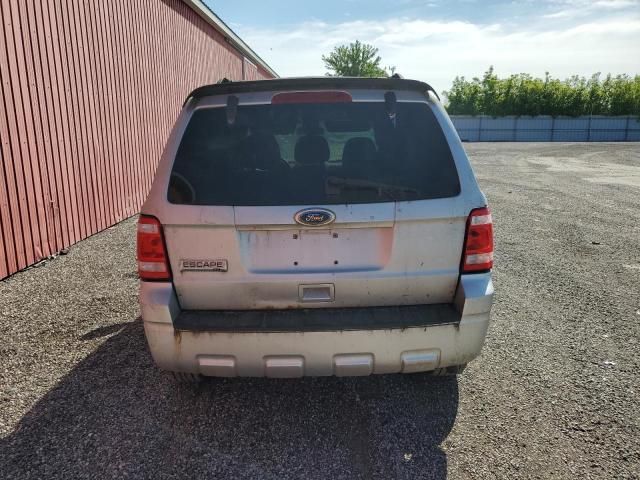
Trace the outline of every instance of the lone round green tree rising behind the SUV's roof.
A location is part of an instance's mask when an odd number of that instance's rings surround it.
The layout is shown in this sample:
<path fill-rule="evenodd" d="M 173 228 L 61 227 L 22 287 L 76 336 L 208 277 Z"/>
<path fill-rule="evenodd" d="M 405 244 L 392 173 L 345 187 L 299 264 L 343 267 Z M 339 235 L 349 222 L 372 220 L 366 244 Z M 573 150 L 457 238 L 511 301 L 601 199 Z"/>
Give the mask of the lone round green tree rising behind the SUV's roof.
<path fill-rule="evenodd" d="M 329 55 L 323 55 L 327 75 L 339 77 L 388 77 L 380 66 L 382 59 L 378 49 L 366 43 L 355 43 L 335 47 Z M 395 68 L 392 68 L 395 70 Z"/>

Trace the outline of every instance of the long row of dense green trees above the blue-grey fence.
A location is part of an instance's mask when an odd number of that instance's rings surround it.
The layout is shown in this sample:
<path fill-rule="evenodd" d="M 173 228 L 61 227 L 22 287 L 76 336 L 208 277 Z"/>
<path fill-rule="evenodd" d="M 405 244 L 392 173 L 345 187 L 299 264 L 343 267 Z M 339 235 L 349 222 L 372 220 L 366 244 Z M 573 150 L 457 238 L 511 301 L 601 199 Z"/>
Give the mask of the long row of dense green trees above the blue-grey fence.
<path fill-rule="evenodd" d="M 640 115 L 640 75 L 498 78 L 489 67 L 481 79 L 456 77 L 444 95 L 452 115 Z"/>

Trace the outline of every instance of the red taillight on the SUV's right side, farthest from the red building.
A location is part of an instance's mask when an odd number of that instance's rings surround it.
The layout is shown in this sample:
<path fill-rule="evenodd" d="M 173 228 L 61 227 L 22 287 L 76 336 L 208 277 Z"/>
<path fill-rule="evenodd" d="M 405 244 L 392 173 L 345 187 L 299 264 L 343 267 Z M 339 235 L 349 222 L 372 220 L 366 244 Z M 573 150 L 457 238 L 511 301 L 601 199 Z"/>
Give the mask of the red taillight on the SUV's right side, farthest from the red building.
<path fill-rule="evenodd" d="M 462 273 L 491 270 L 493 267 L 493 221 L 488 208 L 471 210 L 462 254 Z"/>

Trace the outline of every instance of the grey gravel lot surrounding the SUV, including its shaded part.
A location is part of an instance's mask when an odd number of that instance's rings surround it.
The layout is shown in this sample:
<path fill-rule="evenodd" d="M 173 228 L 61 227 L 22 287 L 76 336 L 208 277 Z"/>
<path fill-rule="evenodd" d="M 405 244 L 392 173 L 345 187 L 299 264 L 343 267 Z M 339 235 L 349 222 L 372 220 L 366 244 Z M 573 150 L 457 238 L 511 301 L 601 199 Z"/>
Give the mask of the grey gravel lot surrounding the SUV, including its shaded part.
<path fill-rule="evenodd" d="M 640 478 L 640 146 L 466 148 L 498 294 L 459 379 L 178 386 L 128 220 L 0 282 L 0 477 Z"/>

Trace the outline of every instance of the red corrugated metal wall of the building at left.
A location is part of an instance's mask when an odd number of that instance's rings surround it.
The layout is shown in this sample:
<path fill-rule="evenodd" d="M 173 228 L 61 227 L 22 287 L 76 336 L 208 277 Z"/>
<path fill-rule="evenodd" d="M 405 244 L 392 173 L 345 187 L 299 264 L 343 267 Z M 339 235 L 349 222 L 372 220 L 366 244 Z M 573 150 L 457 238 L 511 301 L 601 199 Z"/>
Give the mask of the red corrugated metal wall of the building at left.
<path fill-rule="evenodd" d="M 190 90 L 269 76 L 180 0 L 2 0 L 0 21 L 0 278 L 135 214 Z"/>

